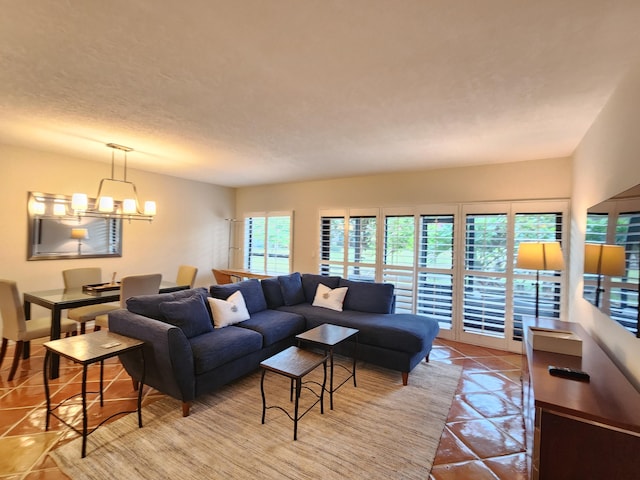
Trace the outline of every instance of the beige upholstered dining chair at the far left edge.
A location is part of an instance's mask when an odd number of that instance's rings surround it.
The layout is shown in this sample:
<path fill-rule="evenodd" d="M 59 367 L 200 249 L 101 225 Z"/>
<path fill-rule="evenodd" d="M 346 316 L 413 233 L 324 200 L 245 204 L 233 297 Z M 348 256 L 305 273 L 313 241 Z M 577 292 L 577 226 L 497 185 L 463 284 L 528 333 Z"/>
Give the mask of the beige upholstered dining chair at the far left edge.
<path fill-rule="evenodd" d="M 2 314 L 2 347 L 0 347 L 0 366 L 7 353 L 9 340 L 16 342 L 13 364 L 9 372 L 9 381 L 13 380 L 22 356 L 24 342 L 51 335 L 51 317 L 26 320 L 24 306 L 16 282 L 0 280 L 0 313 Z M 78 324 L 68 318 L 60 319 L 60 332 L 75 332 Z"/>

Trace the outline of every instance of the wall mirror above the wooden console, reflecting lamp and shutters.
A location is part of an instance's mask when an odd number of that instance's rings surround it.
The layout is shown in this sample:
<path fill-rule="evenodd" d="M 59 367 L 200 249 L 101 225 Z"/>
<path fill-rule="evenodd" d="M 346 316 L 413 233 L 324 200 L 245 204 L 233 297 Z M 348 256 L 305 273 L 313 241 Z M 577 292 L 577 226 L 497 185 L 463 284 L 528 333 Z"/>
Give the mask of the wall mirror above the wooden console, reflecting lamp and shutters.
<path fill-rule="evenodd" d="M 640 185 L 587 210 L 586 243 L 584 298 L 640 338 Z M 608 246 L 613 246 L 614 261 L 607 270 L 603 259 Z M 593 252 L 605 255 L 591 261 Z"/>

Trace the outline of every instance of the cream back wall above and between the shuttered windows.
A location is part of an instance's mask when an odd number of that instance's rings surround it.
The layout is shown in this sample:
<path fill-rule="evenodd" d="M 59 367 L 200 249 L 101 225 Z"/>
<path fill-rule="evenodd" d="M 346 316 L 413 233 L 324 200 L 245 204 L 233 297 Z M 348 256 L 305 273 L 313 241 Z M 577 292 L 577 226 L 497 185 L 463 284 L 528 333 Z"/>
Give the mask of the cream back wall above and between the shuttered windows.
<path fill-rule="evenodd" d="M 294 271 L 317 272 L 319 210 L 569 198 L 571 159 L 394 173 L 240 188 L 244 212 L 294 210 Z"/>

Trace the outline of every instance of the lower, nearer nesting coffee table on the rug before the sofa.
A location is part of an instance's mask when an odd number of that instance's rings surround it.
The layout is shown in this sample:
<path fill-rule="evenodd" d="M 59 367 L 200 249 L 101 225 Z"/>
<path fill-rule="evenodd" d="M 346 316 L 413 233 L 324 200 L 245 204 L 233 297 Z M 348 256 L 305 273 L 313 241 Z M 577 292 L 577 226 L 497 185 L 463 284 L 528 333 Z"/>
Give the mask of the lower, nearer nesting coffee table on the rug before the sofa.
<path fill-rule="evenodd" d="M 320 394 L 316 393 L 310 387 L 305 387 L 309 391 L 311 391 L 318 399 L 313 402 L 312 405 L 307 408 L 302 415 L 298 414 L 298 407 L 300 403 L 300 392 L 302 391 L 302 378 L 308 373 L 315 370 L 318 366 L 324 365 L 324 378 L 322 380 L 322 385 L 317 382 L 305 382 L 305 383 L 315 383 L 321 387 Z M 303 350 L 298 347 L 289 347 L 283 350 L 280 353 L 275 354 L 274 356 L 267 358 L 266 360 L 260 363 L 260 367 L 262 367 L 262 377 L 260 379 L 260 392 L 262 394 L 262 424 L 264 425 L 265 415 L 267 413 L 267 409 L 269 408 L 277 408 L 282 410 L 287 416 L 293 420 L 293 439 L 298 439 L 298 420 L 304 417 L 315 405 L 320 402 L 320 413 L 324 414 L 324 390 L 327 383 L 327 355 L 320 355 L 315 352 L 310 352 L 309 350 Z M 279 375 L 283 375 L 285 377 L 289 377 L 291 379 L 291 389 L 289 392 L 289 401 L 293 400 L 293 390 L 294 390 L 294 382 L 295 382 L 295 391 L 296 391 L 296 401 L 294 406 L 294 414 L 293 417 L 291 414 L 284 408 L 278 405 L 272 405 L 267 407 L 267 400 L 264 394 L 264 376 L 267 371 L 275 372 Z"/>

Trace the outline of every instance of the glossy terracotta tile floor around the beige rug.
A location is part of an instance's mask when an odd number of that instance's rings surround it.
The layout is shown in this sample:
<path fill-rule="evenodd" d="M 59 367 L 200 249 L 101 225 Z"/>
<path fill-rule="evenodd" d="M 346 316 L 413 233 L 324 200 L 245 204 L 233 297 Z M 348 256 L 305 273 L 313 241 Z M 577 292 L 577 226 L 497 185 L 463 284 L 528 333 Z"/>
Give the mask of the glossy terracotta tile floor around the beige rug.
<path fill-rule="evenodd" d="M 0 370 L 0 479 L 66 479 L 47 452 L 78 435 L 53 419 L 44 431 L 43 341 L 32 342 L 32 355 L 21 361 L 9 382 L 13 345 L 9 345 Z M 432 362 L 462 365 L 449 418 L 440 440 L 431 480 L 527 478 L 527 455 L 522 416 L 522 357 L 517 354 L 436 340 Z M 93 367 L 93 368 L 92 368 Z M 89 368 L 89 380 L 98 380 L 99 368 Z M 61 360 L 60 378 L 52 382 L 55 399 L 80 392 L 82 370 Z M 145 393 L 144 404 L 162 395 Z M 105 364 L 105 407 L 90 396 L 90 425 L 111 412 L 135 409 L 136 392 L 117 360 Z M 79 418 L 81 407 L 65 408 L 69 418 Z M 88 451 L 91 452 L 91 437 Z M 78 452 L 78 455 L 80 452 Z"/>

